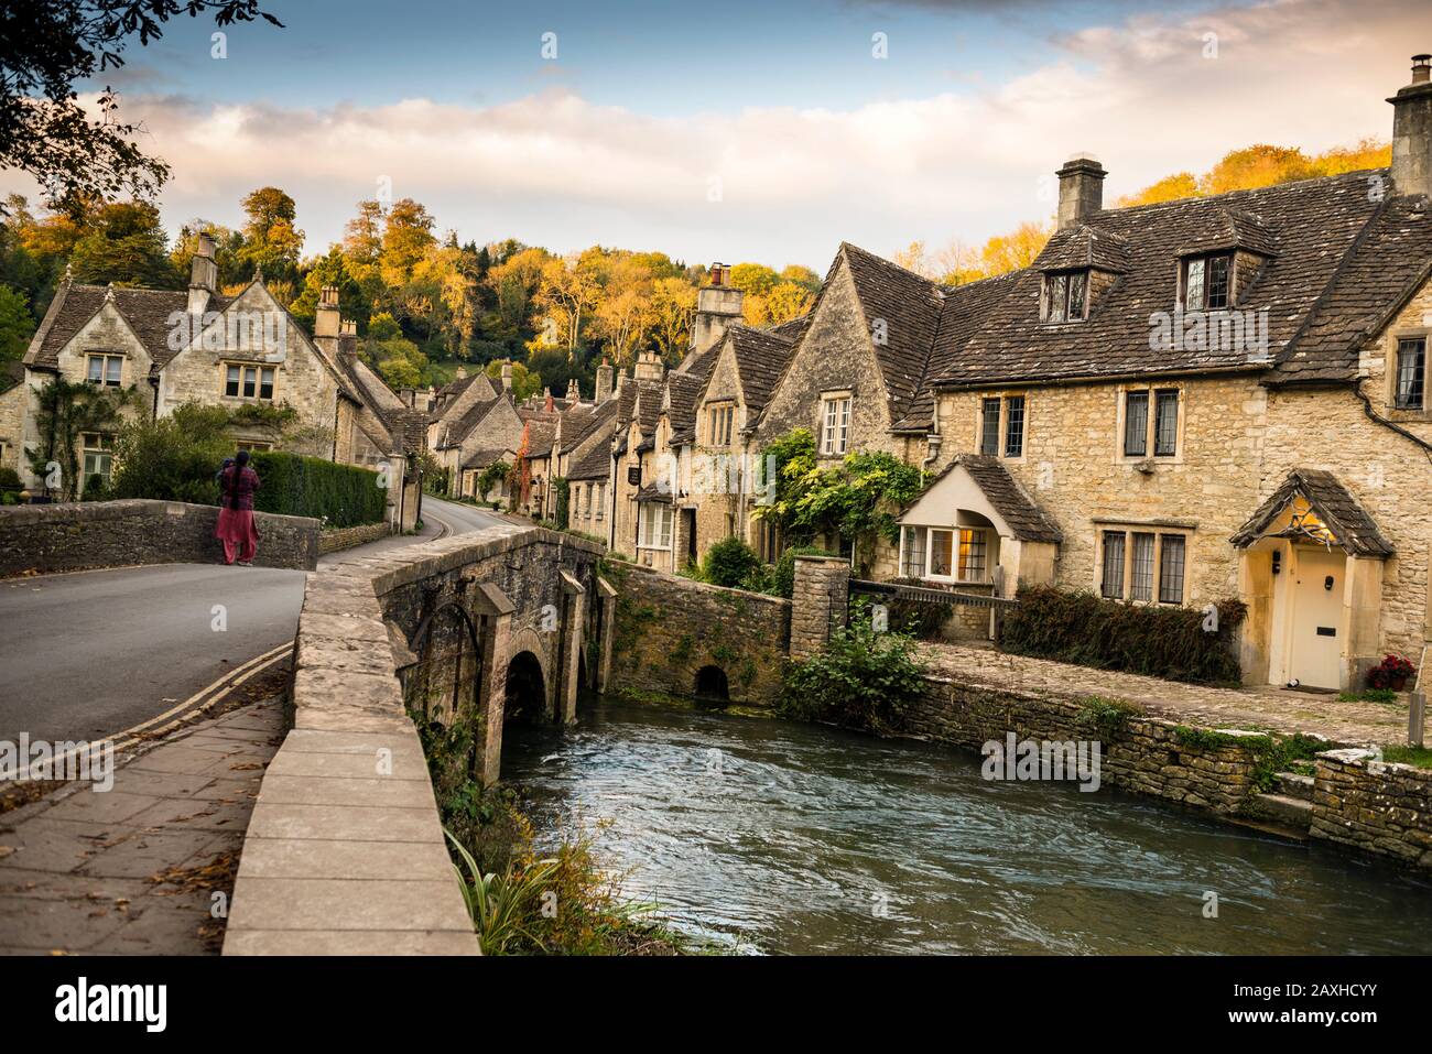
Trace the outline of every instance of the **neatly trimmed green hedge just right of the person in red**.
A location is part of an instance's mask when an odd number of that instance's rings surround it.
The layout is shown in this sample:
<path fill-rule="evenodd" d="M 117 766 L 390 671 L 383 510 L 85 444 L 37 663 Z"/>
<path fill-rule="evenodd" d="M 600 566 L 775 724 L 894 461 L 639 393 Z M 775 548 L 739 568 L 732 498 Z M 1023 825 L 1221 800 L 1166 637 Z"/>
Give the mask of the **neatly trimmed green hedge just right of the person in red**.
<path fill-rule="evenodd" d="M 276 450 L 255 451 L 249 464 L 259 474 L 253 508 L 261 513 L 326 517 L 329 527 L 381 523 L 388 514 L 388 491 L 372 470 Z"/>

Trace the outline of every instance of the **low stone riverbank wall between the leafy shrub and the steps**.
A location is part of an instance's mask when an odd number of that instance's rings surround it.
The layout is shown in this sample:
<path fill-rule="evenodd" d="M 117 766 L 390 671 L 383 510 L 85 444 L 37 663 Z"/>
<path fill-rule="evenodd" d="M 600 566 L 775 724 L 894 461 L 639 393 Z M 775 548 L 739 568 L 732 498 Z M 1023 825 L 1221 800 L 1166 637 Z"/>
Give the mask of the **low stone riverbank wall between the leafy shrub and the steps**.
<path fill-rule="evenodd" d="M 1256 788 L 1252 732 L 1224 730 L 1216 743 L 1180 742 L 1179 725 L 1130 716 L 1118 730 L 1090 723 L 1080 699 L 964 685 L 927 676 L 925 689 L 906 710 L 904 735 L 979 750 L 990 740 L 1098 740 L 1100 779 L 1133 793 L 1161 798 L 1216 813 L 1237 812 Z M 1083 719 L 1081 719 L 1083 717 Z"/>

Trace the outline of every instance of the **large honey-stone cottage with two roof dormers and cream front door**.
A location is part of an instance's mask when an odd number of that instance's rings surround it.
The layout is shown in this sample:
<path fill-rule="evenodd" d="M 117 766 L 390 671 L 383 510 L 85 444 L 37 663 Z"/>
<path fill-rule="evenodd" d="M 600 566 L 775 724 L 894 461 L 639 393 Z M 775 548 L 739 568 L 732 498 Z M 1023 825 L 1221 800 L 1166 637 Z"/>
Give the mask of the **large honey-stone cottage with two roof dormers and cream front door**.
<path fill-rule="evenodd" d="M 1348 687 L 1386 652 L 1421 662 L 1426 56 L 1389 102 L 1390 169 L 1104 209 L 1103 166 L 1064 165 L 1034 265 L 968 304 L 945 292 L 911 402 L 937 412 L 909 421 L 928 432 L 906 454 L 939 475 L 902 517 L 899 571 L 1236 597 L 1252 683 Z"/>

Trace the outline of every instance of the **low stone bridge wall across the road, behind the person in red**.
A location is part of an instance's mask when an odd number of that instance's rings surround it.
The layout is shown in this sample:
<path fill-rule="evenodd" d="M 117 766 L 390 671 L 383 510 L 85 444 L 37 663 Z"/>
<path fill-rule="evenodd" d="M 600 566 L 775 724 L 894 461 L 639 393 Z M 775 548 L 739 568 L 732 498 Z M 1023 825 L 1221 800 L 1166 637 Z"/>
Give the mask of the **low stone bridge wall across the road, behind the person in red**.
<path fill-rule="evenodd" d="M 0 507 L 0 577 L 132 564 L 216 563 L 219 510 L 182 501 L 90 501 Z M 259 567 L 318 564 L 318 520 L 255 513 Z"/>

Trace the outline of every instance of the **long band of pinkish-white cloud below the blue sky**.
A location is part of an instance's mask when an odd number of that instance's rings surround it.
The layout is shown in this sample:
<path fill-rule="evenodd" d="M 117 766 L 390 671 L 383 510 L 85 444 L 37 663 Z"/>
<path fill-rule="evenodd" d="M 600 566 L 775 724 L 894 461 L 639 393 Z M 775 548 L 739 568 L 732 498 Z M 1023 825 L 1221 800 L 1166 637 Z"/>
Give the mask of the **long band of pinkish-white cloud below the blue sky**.
<path fill-rule="evenodd" d="M 1216 60 L 1203 57 L 1209 32 Z M 1432 50 L 1432 19 L 1421 0 L 1273 0 L 1181 20 L 1133 16 L 1058 43 L 1063 57 L 1004 84 L 843 112 L 776 105 L 776 87 L 772 106 L 683 119 L 557 87 L 481 107 L 132 96 L 125 112 L 173 165 L 173 223 L 236 222 L 239 198 L 272 183 L 298 200 L 306 249 L 318 252 L 390 176 L 395 196 L 424 202 L 463 238 L 823 269 L 841 239 L 876 251 L 914 238 L 978 242 L 1048 215 L 1041 186 L 1081 150 L 1110 169 L 1113 199 L 1253 142 L 1388 137 L 1383 99 L 1408 79 L 1408 54 Z"/>

